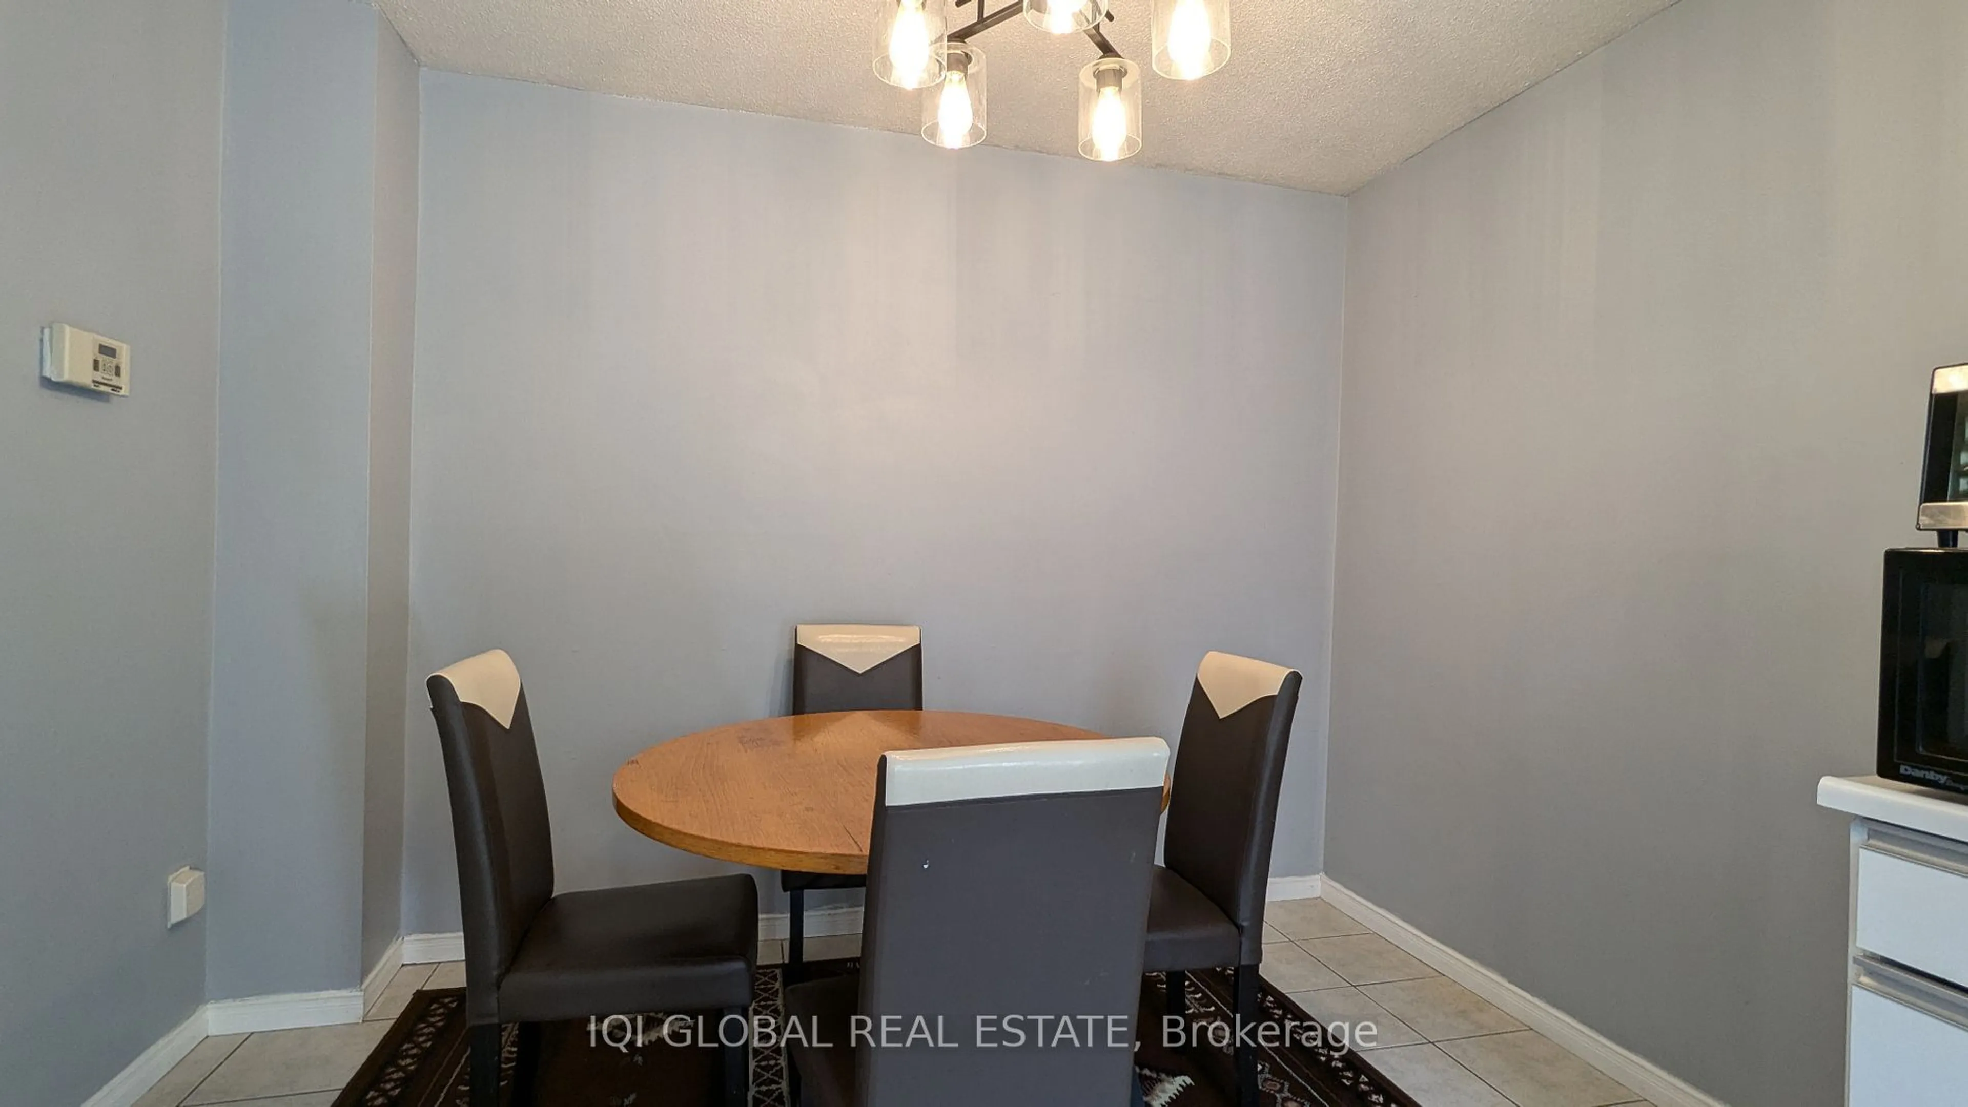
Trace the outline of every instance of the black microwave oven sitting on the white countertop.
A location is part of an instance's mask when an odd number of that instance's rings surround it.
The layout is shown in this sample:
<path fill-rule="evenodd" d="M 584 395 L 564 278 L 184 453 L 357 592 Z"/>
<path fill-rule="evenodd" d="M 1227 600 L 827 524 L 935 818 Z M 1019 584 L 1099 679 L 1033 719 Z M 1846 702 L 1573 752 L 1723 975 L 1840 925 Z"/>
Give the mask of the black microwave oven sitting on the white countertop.
<path fill-rule="evenodd" d="M 1968 549 L 1885 551 L 1879 775 L 1968 792 Z"/>

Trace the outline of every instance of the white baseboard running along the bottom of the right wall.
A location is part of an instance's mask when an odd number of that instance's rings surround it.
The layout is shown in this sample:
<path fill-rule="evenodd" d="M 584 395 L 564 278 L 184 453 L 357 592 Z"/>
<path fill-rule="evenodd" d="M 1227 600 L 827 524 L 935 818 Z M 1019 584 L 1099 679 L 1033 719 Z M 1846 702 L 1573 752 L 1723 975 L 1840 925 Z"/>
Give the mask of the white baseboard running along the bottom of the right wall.
<path fill-rule="evenodd" d="M 1509 983 L 1496 969 L 1464 958 L 1399 916 L 1360 899 L 1330 877 L 1322 881 L 1322 899 L 1431 969 L 1488 999 L 1517 1022 L 1578 1054 L 1592 1068 L 1628 1085 L 1633 1095 L 1657 1107 L 1726 1107 L 1720 1099 Z"/>

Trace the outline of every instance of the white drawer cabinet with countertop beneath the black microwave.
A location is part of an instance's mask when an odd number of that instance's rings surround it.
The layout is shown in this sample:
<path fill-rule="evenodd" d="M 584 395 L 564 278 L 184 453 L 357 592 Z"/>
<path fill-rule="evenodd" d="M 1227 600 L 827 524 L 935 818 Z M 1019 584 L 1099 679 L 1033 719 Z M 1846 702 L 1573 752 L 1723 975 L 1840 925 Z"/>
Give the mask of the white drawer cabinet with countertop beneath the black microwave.
<path fill-rule="evenodd" d="M 1824 779 L 1852 820 L 1846 1107 L 1968 1107 L 1968 796 Z"/>

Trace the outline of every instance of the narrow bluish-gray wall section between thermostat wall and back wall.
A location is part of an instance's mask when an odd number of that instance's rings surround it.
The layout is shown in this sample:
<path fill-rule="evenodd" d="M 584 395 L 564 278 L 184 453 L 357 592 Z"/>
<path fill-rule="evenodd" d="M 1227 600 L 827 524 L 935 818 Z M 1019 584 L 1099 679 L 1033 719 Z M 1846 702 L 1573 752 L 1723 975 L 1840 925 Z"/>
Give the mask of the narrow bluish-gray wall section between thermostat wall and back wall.
<path fill-rule="evenodd" d="M 401 208 L 378 206 L 415 173 L 413 87 L 392 39 L 348 0 L 230 10 L 213 999 L 356 985 L 366 885 L 388 897 L 396 881 L 401 739 L 388 722 L 372 735 L 366 706 L 370 667 L 401 649 L 390 615 L 405 556 L 401 474 L 372 480 L 403 452 L 413 287 L 413 252 L 392 240 Z M 384 855 L 376 873 L 364 842 Z"/>

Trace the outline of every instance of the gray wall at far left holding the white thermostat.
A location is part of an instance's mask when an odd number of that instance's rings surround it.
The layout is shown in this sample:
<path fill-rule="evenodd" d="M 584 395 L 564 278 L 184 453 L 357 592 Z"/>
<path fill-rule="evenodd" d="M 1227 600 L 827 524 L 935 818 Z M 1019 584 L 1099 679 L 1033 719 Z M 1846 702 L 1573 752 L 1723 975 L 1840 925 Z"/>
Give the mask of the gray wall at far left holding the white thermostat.
<path fill-rule="evenodd" d="M 0 1103 L 47 1107 L 205 997 L 163 879 L 205 859 L 224 4 L 0 28 Z M 41 387 L 55 320 L 128 340 L 132 393 Z"/>

